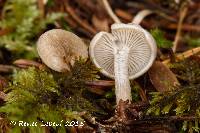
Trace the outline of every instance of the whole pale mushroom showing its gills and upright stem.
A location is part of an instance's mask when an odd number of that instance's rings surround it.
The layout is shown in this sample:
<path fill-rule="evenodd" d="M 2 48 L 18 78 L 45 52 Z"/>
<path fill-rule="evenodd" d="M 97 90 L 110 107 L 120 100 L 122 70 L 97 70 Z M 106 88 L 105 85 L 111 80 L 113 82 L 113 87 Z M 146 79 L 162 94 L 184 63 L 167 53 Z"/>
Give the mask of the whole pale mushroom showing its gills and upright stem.
<path fill-rule="evenodd" d="M 129 79 L 144 74 L 156 57 L 156 43 L 142 27 L 115 23 L 112 34 L 100 32 L 92 39 L 89 54 L 100 71 L 115 79 L 116 101 L 132 100 Z"/>

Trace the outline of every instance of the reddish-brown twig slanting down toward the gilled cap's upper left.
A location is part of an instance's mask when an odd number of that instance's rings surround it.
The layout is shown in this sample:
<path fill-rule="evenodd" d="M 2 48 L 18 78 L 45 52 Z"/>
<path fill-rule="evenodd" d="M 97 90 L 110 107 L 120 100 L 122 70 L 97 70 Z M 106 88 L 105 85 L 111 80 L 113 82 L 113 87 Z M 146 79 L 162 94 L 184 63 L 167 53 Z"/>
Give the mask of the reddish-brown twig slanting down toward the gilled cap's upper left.
<path fill-rule="evenodd" d="M 79 16 L 76 15 L 76 13 L 74 12 L 74 10 L 68 6 L 68 4 L 65 4 L 65 9 L 66 11 L 71 15 L 71 17 L 80 25 L 82 26 L 84 29 L 88 30 L 90 33 L 92 34 L 96 34 L 97 31 L 92 28 L 87 22 L 83 21 L 80 19 Z"/>

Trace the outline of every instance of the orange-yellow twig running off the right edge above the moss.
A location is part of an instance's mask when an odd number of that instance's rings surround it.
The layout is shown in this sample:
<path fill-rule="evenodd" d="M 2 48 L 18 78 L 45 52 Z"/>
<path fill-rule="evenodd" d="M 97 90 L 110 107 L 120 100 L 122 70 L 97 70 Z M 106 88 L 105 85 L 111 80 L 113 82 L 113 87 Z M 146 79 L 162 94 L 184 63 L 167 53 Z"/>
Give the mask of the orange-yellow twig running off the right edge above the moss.
<path fill-rule="evenodd" d="M 184 53 L 178 54 L 175 58 L 176 58 L 176 60 L 183 60 L 183 59 L 188 58 L 199 52 L 200 52 L 200 47 L 197 47 L 197 48 L 185 51 Z M 166 59 L 166 60 L 162 61 L 162 63 L 165 65 L 168 65 L 170 63 L 170 59 Z"/>

